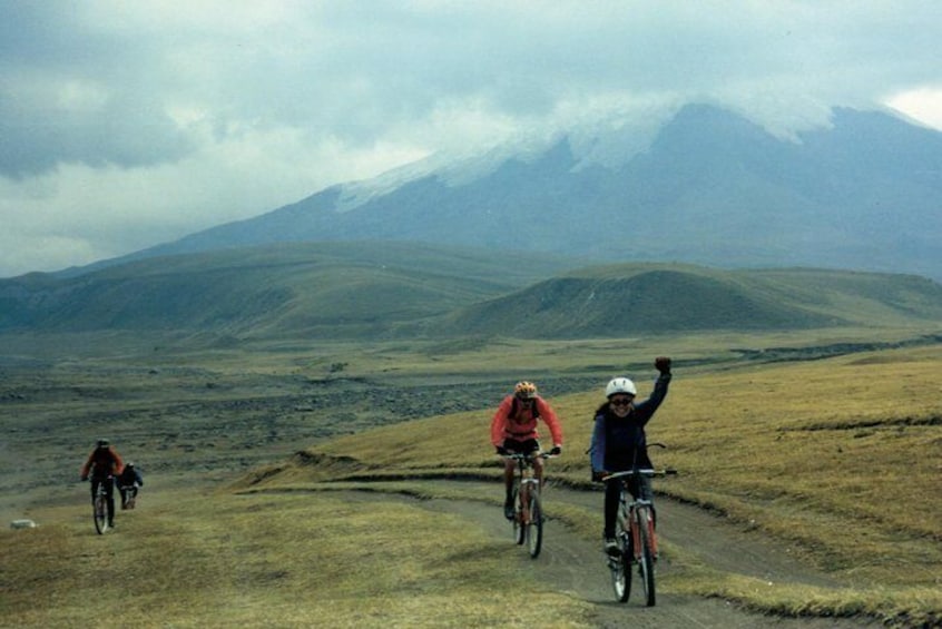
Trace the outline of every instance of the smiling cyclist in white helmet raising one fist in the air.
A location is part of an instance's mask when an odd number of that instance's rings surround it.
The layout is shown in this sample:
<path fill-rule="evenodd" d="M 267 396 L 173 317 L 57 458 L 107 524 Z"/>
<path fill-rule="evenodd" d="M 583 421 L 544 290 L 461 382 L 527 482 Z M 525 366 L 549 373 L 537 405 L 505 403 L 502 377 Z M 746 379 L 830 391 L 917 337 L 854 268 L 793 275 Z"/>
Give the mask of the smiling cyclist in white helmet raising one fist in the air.
<path fill-rule="evenodd" d="M 651 468 L 648 458 L 645 425 L 667 396 L 670 384 L 670 358 L 655 358 L 655 367 L 660 372 L 655 382 L 654 393 L 644 402 L 635 403 L 638 390 L 627 377 L 616 377 L 605 389 L 607 401 L 596 411 L 592 442 L 589 448 L 592 462 L 592 478 L 600 481 L 611 472 L 625 472 L 634 468 Z M 645 476 L 629 483 L 635 499 L 650 500 L 651 480 Z M 618 517 L 618 483 L 607 483 L 605 488 L 605 550 L 618 552 L 615 539 L 615 521 Z M 637 493 L 636 493 L 637 492 Z"/>

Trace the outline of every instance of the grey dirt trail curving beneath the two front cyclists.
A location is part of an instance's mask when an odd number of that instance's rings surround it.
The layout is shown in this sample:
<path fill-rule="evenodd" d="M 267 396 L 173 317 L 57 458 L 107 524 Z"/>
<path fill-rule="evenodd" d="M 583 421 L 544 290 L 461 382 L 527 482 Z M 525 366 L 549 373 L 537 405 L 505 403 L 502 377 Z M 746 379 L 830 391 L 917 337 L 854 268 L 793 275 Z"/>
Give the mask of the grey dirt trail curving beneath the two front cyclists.
<path fill-rule="evenodd" d="M 442 481 L 447 482 L 447 481 Z M 493 489 L 493 485 L 490 485 Z M 632 592 L 627 603 L 614 600 L 608 571 L 601 552 L 601 540 L 587 540 L 552 520 L 552 502 L 589 507 L 601 512 L 600 492 L 580 492 L 549 488 L 547 492 L 548 522 L 543 549 L 536 560 L 514 546 L 510 525 L 499 508 L 482 507 L 480 502 L 460 500 L 428 500 L 422 507 L 455 513 L 474 522 L 495 539 L 507 540 L 508 557 L 517 558 L 521 568 L 537 570 L 541 579 L 589 602 L 598 627 L 615 628 L 811 628 L 853 629 L 877 627 L 866 619 L 832 620 L 821 618 L 778 618 L 744 611 L 722 600 L 676 596 L 658 592 L 657 606 L 645 607 L 640 594 Z M 408 499 L 404 499 L 408 500 Z M 833 579 L 811 570 L 793 559 L 787 548 L 748 534 L 694 507 L 659 499 L 659 532 L 664 539 L 693 551 L 708 566 L 756 577 L 766 582 L 803 582 L 834 586 Z M 670 563 L 660 561 L 658 573 L 667 574 Z"/>

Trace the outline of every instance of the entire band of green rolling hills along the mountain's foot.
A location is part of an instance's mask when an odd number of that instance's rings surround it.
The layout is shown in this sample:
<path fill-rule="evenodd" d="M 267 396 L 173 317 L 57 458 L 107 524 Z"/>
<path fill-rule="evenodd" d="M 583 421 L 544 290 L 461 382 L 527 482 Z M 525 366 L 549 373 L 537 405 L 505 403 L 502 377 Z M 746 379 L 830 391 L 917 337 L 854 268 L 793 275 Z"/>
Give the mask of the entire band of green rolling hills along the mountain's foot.
<path fill-rule="evenodd" d="M 577 268 L 531 254 L 294 244 L 0 282 L 0 332 L 174 331 L 254 338 L 638 333 L 932 325 L 942 286 L 912 275 Z"/>

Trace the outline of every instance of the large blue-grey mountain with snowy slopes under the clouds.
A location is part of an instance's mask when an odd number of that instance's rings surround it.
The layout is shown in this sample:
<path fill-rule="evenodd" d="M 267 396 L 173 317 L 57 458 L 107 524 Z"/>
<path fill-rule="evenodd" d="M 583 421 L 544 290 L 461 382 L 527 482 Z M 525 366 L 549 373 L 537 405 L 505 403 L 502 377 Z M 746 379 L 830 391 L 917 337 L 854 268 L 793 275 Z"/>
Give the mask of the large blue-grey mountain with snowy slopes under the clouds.
<path fill-rule="evenodd" d="M 942 132 L 884 112 L 835 109 L 828 127 L 787 138 L 690 105 L 595 135 L 423 160 L 92 266 L 298 240 L 455 243 L 495 255 L 824 266 L 939 279 Z"/>

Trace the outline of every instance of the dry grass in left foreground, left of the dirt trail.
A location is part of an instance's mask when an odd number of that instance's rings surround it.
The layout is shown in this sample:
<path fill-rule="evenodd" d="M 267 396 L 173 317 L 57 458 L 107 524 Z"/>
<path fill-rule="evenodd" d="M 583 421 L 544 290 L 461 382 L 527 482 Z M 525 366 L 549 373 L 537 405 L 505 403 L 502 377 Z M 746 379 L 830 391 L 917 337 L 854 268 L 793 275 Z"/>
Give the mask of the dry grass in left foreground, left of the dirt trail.
<path fill-rule="evenodd" d="M 171 499 L 149 494 L 104 537 L 76 507 L 0 533 L 0 626 L 532 627 L 548 609 L 589 626 L 587 603 L 454 515 L 311 493 Z"/>

